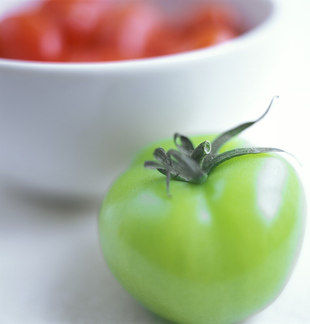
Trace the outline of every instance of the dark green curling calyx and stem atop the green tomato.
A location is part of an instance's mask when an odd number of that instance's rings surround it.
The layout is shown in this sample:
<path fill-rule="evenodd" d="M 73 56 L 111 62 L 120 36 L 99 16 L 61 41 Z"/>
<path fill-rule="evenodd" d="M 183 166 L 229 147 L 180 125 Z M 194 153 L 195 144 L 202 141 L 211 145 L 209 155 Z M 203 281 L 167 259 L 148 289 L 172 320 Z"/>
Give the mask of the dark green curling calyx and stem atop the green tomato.
<path fill-rule="evenodd" d="M 166 175 L 166 186 L 169 194 L 170 179 L 201 184 L 207 179 L 208 174 L 212 172 L 212 170 L 233 157 L 246 154 L 285 152 L 274 147 L 258 147 L 236 148 L 219 154 L 219 149 L 233 136 L 236 136 L 243 130 L 260 121 L 269 111 L 275 98 L 279 97 L 273 97 L 267 110 L 260 118 L 255 121 L 241 124 L 222 133 L 212 143 L 204 141 L 195 148 L 186 136 L 176 133 L 174 135 L 174 143 L 178 150 L 171 149 L 166 152 L 161 147 L 156 148 L 154 151 L 156 161 L 145 161 L 144 167 L 157 169 L 160 173 Z"/>

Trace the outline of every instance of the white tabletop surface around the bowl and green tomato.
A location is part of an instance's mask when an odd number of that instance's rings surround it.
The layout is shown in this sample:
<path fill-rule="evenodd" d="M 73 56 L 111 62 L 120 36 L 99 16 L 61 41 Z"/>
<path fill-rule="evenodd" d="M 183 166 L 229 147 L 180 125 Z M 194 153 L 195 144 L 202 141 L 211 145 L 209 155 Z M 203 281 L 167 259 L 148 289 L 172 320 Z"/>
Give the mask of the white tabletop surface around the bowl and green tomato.
<path fill-rule="evenodd" d="M 294 38 L 274 74 L 271 96 L 281 98 L 260 125 L 242 136 L 294 153 L 310 188 L 310 6 L 302 0 L 284 4 Z M 56 204 L 0 182 L 0 323 L 167 323 L 140 306 L 112 277 L 100 250 L 98 209 L 98 202 Z M 283 293 L 244 323 L 309 324 L 309 269 L 307 226 L 299 261 Z"/>

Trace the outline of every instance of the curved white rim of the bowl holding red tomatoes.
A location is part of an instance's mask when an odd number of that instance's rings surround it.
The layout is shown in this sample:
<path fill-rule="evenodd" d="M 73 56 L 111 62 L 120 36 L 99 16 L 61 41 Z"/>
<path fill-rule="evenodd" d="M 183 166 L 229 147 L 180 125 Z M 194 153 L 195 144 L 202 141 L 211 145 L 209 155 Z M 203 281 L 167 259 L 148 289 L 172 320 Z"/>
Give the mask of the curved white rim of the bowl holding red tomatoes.
<path fill-rule="evenodd" d="M 139 59 L 119 60 L 119 61 L 105 61 L 105 62 L 39 62 L 28 60 L 16 60 L 0 57 L 0 68 L 19 68 L 31 70 L 49 70 L 49 71 L 86 71 L 86 70 L 119 70 L 119 69 L 135 69 L 148 68 L 159 65 L 178 64 L 189 61 L 196 61 L 201 59 L 209 59 L 223 54 L 229 54 L 242 47 L 255 42 L 257 39 L 264 37 L 265 33 L 274 26 L 280 15 L 281 6 L 277 0 L 263 0 L 268 3 L 271 8 L 267 17 L 253 28 L 244 32 L 243 34 L 234 37 L 229 41 L 220 44 L 190 50 L 186 52 L 178 52 L 167 55 L 160 55 L 154 57 L 146 57 Z"/>

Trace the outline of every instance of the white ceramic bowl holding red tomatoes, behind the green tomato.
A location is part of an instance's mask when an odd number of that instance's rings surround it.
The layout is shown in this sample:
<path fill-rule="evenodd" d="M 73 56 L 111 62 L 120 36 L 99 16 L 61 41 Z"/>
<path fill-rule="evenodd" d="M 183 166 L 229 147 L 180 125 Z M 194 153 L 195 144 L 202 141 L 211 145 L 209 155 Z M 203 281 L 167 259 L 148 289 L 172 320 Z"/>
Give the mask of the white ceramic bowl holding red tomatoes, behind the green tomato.
<path fill-rule="evenodd" d="M 112 63 L 0 59 L 2 181 L 101 197 L 148 142 L 257 117 L 271 98 L 280 10 L 273 0 L 229 2 L 247 32 L 206 49 Z"/>

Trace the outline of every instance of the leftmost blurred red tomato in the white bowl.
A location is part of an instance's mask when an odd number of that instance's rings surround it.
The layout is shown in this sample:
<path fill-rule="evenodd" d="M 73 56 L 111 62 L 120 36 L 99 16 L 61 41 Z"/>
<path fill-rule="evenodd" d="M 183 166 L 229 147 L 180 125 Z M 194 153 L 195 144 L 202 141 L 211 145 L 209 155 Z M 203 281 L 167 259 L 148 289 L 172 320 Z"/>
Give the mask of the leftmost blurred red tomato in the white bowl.
<path fill-rule="evenodd" d="M 59 28 L 36 13 L 7 17 L 0 23 L 1 55 L 32 61 L 63 59 L 63 39 Z"/>

